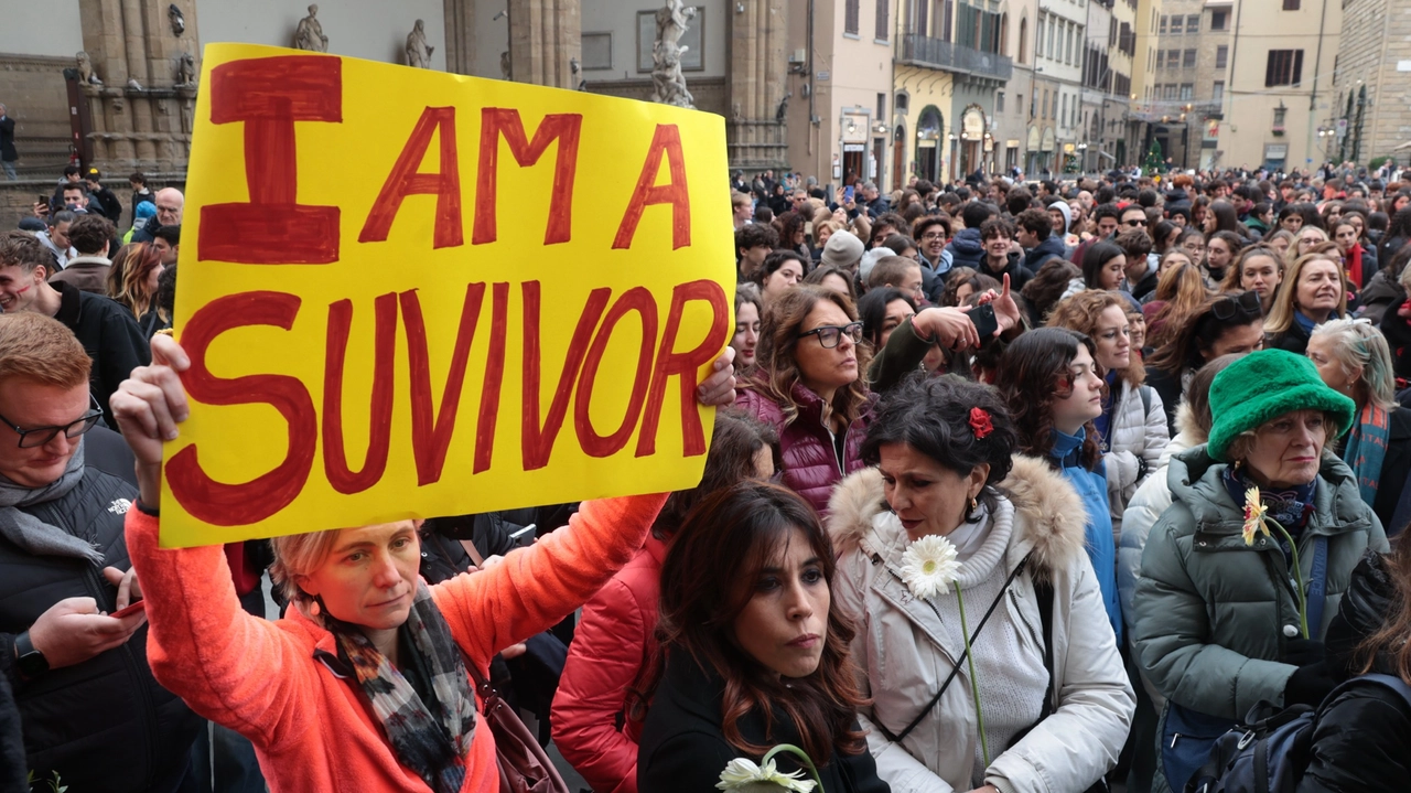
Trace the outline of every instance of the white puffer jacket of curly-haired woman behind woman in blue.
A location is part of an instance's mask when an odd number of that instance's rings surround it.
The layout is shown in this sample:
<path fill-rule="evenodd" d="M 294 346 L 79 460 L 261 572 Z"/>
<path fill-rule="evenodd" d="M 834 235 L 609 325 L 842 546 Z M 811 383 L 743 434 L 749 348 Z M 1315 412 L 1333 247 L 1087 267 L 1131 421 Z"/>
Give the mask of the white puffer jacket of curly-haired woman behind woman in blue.
<path fill-rule="evenodd" d="M 1147 402 L 1141 401 L 1141 391 L 1146 391 Z M 1112 507 L 1112 542 L 1119 547 L 1122 515 L 1127 502 L 1161 463 L 1161 453 L 1168 442 L 1161 396 L 1151 387 L 1132 388 L 1122 382 L 1118 406 L 1112 411 L 1112 423 L 1108 426 L 1108 453 L 1102 456 L 1108 470 L 1108 502 Z"/>

